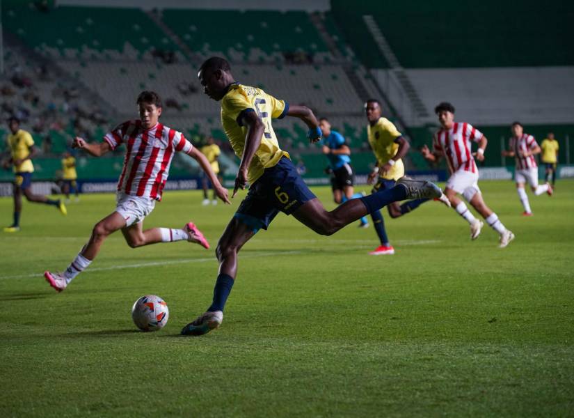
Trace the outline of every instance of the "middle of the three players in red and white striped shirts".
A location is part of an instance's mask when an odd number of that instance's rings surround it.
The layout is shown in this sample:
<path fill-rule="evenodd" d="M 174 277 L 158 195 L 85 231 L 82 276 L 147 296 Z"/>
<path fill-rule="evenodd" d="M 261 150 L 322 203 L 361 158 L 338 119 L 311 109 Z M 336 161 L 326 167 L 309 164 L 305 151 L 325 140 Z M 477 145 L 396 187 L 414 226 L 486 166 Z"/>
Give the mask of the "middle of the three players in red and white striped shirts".
<path fill-rule="evenodd" d="M 479 173 L 474 157 L 479 161 L 484 160 L 488 140 L 470 123 L 455 122 L 452 104 L 438 104 L 435 113 L 442 128 L 434 136 L 433 150 L 429 150 L 426 145 L 422 148 L 423 157 L 429 162 L 438 162 L 440 158 L 446 157 L 451 175 L 447 180 L 445 195 L 456 212 L 470 224 L 470 238 L 477 239 L 484 224 L 472 215 L 456 194 L 462 194 L 486 219 L 486 223 L 500 235 L 500 247 L 506 247 L 514 239 L 514 234 L 506 229 L 495 212 L 486 206 L 478 187 Z M 472 142 L 478 144 L 476 153 L 472 153 Z"/>

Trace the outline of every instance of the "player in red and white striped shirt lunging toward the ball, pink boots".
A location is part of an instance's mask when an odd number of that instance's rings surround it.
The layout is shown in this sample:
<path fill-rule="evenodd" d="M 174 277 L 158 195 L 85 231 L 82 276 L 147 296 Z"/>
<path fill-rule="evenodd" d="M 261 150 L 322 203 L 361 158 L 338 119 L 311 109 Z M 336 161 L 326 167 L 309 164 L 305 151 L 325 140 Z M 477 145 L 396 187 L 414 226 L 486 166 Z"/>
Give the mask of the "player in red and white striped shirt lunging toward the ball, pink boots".
<path fill-rule="evenodd" d="M 73 146 L 86 150 L 95 157 L 125 144 L 124 168 L 118 181 L 117 206 L 111 215 L 95 224 L 90 240 L 63 273 L 45 272 L 44 276 L 56 291 L 63 291 L 80 272 L 90 265 L 104 240 L 111 233 L 122 230 L 131 248 L 157 242 L 187 240 L 209 248 L 209 243 L 193 224 L 188 222 L 182 229 L 152 228 L 143 231 L 143 219 L 150 215 L 166 185 L 173 155 L 183 152 L 197 160 L 221 200 L 230 203 L 228 191 L 223 188 L 212 171 L 205 155 L 185 139 L 181 132 L 159 122 L 161 98 L 153 91 L 143 91 L 137 100 L 140 118 L 115 127 L 104 136 L 100 144 L 88 144 L 77 137 Z"/>

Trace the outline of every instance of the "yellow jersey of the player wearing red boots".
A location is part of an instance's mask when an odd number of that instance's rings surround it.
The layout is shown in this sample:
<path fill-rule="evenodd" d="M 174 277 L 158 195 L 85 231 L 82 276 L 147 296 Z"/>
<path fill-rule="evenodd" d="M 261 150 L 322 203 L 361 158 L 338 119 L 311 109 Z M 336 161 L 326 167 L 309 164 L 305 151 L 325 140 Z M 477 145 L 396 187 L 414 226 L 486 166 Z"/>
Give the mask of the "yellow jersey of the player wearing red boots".
<path fill-rule="evenodd" d="M 401 132 L 386 118 L 380 118 L 373 126 L 367 125 L 367 138 L 379 166 L 383 166 L 392 157 L 397 155 L 399 144 L 394 142 L 401 136 Z M 399 180 L 405 175 L 405 168 L 402 160 L 397 160 L 389 171 L 383 172 L 379 176 L 386 180 Z"/>

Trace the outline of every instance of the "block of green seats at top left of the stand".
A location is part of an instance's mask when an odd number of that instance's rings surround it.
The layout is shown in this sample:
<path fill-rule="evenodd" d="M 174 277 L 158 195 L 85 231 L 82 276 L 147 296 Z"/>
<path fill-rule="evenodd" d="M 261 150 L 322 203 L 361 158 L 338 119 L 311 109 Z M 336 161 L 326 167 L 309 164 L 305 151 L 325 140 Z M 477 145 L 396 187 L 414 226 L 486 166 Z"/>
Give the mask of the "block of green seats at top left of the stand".
<path fill-rule="evenodd" d="M 26 1 L 3 5 L 3 23 L 33 49 L 70 59 L 151 58 L 178 47 L 142 10 L 60 6 L 40 11 Z"/>

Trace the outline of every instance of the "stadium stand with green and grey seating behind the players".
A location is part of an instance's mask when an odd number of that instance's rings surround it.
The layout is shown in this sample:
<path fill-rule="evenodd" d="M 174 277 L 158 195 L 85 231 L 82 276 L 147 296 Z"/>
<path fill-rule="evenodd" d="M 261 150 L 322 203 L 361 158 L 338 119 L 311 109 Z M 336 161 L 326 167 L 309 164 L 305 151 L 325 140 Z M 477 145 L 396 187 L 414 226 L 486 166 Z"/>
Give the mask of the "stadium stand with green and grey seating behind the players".
<path fill-rule="evenodd" d="M 0 77 L 3 116 L 26 115 L 24 125 L 42 157 L 54 158 L 51 165 L 42 161 L 40 173 L 43 167 L 59 167 L 59 155 L 74 135 L 98 139 L 111 125 L 134 118 L 137 94 L 154 89 L 164 98 L 164 123 L 196 143 L 211 135 L 230 153 L 218 104 L 202 95 L 196 79 L 198 63 L 221 54 L 232 62 L 239 82 L 327 116 L 353 148 L 358 171 L 368 170 L 372 163 L 362 114 L 368 97 L 383 100 L 383 114 L 399 125 L 415 148 L 429 144 L 436 129 L 432 109 L 440 100 L 454 102 L 457 116 L 485 132 L 496 153 L 513 119 L 523 121 L 539 138 L 549 130 L 557 137 L 574 137 L 574 67 L 564 66 L 574 65 L 574 48 L 569 47 L 574 33 L 566 24 L 573 18 L 572 8 L 564 6 L 557 21 L 555 9 L 561 3 L 552 3 L 542 13 L 534 4 L 527 0 L 515 7 L 486 0 L 466 6 L 447 0 L 440 6 L 417 2 L 415 7 L 412 0 L 368 1 L 351 9 L 347 2 L 333 0 L 330 11 L 308 13 L 41 8 L 38 2 L 5 0 L 3 24 L 10 47 L 4 54 L 6 74 Z M 445 11 L 444 18 L 430 19 L 431 7 Z M 491 13 L 493 9 L 500 13 Z M 505 16 L 511 12 L 515 18 L 509 20 Z M 365 15 L 385 37 L 428 118 L 410 116 L 408 92 L 396 63 L 381 52 Z M 554 21 L 544 30 L 524 24 L 545 22 L 550 16 Z M 234 24 L 246 20 L 257 24 Z M 465 20 L 479 29 L 465 31 L 459 24 L 453 36 L 452 22 Z M 463 47 L 467 54 L 443 53 Z M 440 62 L 435 59 L 438 52 Z M 22 79 L 29 85 L 22 85 Z M 447 93 L 445 85 L 450 86 Z M 403 90 L 395 97 L 390 88 Z M 315 165 L 324 168 L 324 157 L 317 146 L 308 144 L 301 123 L 286 119 L 274 126 L 282 146 L 311 167 L 308 173 L 318 172 Z M 317 164 L 310 162 L 313 159 Z M 235 162 L 230 153 L 228 165 Z M 504 161 L 493 157 L 487 164 Z M 407 167 L 428 166 L 420 155 L 410 153 Z"/>

